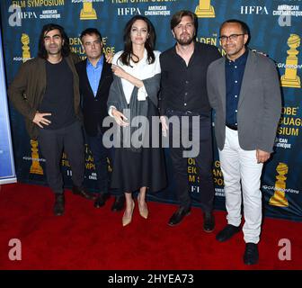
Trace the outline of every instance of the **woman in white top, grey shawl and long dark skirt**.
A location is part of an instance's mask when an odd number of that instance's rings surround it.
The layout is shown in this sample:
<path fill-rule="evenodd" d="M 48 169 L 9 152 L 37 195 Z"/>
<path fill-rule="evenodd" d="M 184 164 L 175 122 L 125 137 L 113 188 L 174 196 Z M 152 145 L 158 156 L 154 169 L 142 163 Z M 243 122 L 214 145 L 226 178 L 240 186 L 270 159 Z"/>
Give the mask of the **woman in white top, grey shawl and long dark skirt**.
<path fill-rule="evenodd" d="M 138 130 L 138 122 L 134 124 L 136 116 L 136 119 L 142 116 L 148 123 L 151 123 L 151 118 L 159 117 L 160 52 L 154 51 L 155 29 L 152 23 L 140 15 L 131 18 L 124 30 L 124 43 L 124 49 L 116 53 L 112 60 L 114 80 L 108 112 L 120 126 L 120 137 L 123 139 L 121 147 L 115 149 L 111 187 L 125 192 L 126 210 L 122 225 L 126 226 L 132 220 L 135 207 L 132 193 L 139 190 L 138 211 L 147 219 L 147 188 L 150 192 L 163 189 L 166 175 L 162 148 L 136 145 L 131 141 L 127 145 L 125 140 L 126 135 L 132 136 Z M 152 127 L 148 127 L 149 130 L 141 130 L 145 144 L 152 143 Z"/>

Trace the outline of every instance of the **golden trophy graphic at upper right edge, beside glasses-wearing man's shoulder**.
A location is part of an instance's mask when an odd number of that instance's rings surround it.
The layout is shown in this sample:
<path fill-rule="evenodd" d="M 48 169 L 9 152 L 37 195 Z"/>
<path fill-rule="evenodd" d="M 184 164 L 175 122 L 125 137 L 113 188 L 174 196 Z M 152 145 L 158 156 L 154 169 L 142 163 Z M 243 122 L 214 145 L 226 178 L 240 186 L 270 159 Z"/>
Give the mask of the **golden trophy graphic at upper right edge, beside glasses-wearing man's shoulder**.
<path fill-rule="evenodd" d="M 288 57 L 286 59 L 285 74 L 281 76 L 282 87 L 300 88 L 301 81 L 297 75 L 298 67 L 298 50 L 300 46 L 300 37 L 297 34 L 290 34 L 288 40 L 289 50 L 287 51 Z"/>

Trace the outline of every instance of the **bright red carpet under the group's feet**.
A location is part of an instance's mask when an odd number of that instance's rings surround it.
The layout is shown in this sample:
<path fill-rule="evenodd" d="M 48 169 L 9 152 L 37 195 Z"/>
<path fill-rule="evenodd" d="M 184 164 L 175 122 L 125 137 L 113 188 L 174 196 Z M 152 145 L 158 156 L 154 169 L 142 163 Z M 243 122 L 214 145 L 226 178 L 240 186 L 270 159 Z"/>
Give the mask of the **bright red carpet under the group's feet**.
<path fill-rule="evenodd" d="M 1 186 L 0 186 L 1 187 Z M 148 202 L 150 218 L 134 211 L 132 223 L 121 226 L 122 212 L 111 212 L 113 199 L 101 209 L 66 193 L 66 213 L 52 215 L 49 188 L 5 184 L 0 190 L 0 269 L 302 269 L 302 224 L 265 219 L 259 265 L 244 266 L 243 234 L 226 243 L 215 235 L 226 224 L 216 211 L 214 233 L 202 230 L 200 209 L 193 208 L 181 225 L 167 226 L 174 205 Z M 11 238 L 22 242 L 22 260 L 11 261 Z M 291 241 L 291 260 L 280 261 L 281 238 Z"/>

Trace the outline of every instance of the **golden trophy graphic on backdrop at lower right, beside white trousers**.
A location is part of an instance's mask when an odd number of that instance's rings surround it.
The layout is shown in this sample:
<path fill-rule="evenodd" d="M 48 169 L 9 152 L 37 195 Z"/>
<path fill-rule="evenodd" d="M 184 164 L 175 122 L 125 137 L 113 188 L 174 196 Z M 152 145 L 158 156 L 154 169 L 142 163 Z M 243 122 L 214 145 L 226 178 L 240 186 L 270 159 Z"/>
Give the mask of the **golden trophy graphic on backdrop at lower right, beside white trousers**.
<path fill-rule="evenodd" d="M 275 193 L 271 196 L 269 204 L 278 207 L 289 207 L 289 202 L 285 198 L 286 179 L 289 173 L 289 166 L 285 163 L 279 163 L 276 168 L 278 175 L 276 176 Z"/>

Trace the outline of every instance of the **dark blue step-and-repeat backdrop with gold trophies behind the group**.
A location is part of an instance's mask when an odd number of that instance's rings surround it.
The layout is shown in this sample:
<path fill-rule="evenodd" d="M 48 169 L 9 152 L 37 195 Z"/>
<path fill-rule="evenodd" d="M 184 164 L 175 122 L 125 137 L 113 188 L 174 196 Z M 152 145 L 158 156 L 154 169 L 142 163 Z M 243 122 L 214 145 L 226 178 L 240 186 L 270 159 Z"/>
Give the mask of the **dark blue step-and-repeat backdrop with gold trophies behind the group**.
<path fill-rule="evenodd" d="M 123 47 L 125 23 L 133 15 L 142 14 L 154 23 L 156 49 L 163 51 L 174 44 L 169 28 L 171 16 L 182 9 L 194 11 L 199 17 L 197 40 L 218 47 L 220 23 L 230 18 L 243 20 L 251 29 L 250 48 L 266 53 L 276 62 L 283 109 L 275 142 L 276 152 L 262 175 L 263 202 L 267 216 L 302 220 L 302 0 L 4 0 L 1 1 L 1 20 L 7 83 L 12 81 L 22 62 L 36 57 L 40 29 L 45 23 L 64 26 L 72 50 L 84 57 L 79 34 L 85 28 L 98 28 L 102 32 L 105 50 L 114 53 Z M 219 50 L 223 53 L 220 47 Z M 10 112 L 18 180 L 45 184 L 45 160 L 40 155 L 39 143 L 29 139 L 22 116 L 13 107 Z M 93 157 L 88 148 L 86 151 L 86 185 L 94 190 Z M 170 185 L 149 197 L 160 202 L 176 202 L 168 151 L 166 155 Z M 69 187 L 71 169 L 66 156 L 62 158 L 62 166 Z M 191 158 L 188 159 L 188 175 L 194 205 L 198 206 L 202 191 Z M 216 208 L 225 209 L 217 152 L 213 175 Z"/>

